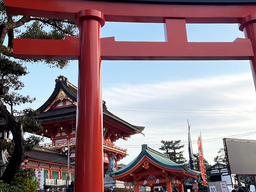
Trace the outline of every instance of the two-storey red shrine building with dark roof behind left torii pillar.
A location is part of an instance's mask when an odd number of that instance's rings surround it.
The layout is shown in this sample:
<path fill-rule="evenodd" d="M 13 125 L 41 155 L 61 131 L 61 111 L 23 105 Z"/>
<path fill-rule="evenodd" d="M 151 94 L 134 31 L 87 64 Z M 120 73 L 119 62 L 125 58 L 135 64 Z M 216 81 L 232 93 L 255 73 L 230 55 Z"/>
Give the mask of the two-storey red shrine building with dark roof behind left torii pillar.
<path fill-rule="evenodd" d="M 76 155 L 77 87 L 64 76 L 58 76 L 55 82 L 51 96 L 38 108 L 38 119 L 42 121 L 43 129 L 34 133 L 50 138 L 52 142 L 41 144 L 33 152 L 25 153 L 22 167 L 44 168 L 45 179 L 67 180 L 67 154 L 62 152 L 62 147 L 68 147 L 69 141 L 70 159 L 73 159 L 70 162 L 73 162 Z M 104 175 L 109 169 L 109 158 L 116 156 L 115 168 L 118 170 L 117 162 L 128 155 L 127 149 L 115 146 L 114 142 L 118 139 L 127 140 L 137 133 L 143 134 L 144 128 L 115 116 L 103 102 Z M 71 180 L 74 180 L 73 167 L 70 167 Z"/>

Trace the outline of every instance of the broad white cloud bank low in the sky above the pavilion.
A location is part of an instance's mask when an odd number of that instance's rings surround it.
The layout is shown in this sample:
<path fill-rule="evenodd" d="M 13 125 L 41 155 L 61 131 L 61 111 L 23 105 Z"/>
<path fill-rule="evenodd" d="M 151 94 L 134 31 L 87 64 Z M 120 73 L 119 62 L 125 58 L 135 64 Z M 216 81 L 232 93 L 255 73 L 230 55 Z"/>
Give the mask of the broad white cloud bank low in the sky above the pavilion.
<path fill-rule="evenodd" d="M 256 94 L 252 74 L 233 74 L 161 82 L 157 84 L 123 84 L 103 90 L 108 110 L 120 118 L 138 126 L 146 126 L 145 137 L 134 135 L 127 142 L 118 141 L 117 146 L 128 148 L 130 154 L 123 163 L 129 163 L 140 152 L 141 144 L 160 147 L 160 140 L 188 141 L 189 119 L 192 141 L 202 132 L 202 139 L 231 136 L 255 130 L 254 113 L 215 114 L 218 111 L 200 110 L 255 110 Z M 126 106 L 131 108 L 117 108 Z M 141 108 L 132 108 L 141 107 Z M 150 109 L 150 108 L 158 108 Z M 190 110 L 164 110 L 190 109 Z M 198 110 L 198 111 L 191 111 Z M 178 112 L 178 113 L 174 113 Z M 221 111 L 224 113 L 224 111 Z M 255 135 L 241 138 L 252 138 Z M 125 146 L 124 146 L 125 145 Z M 133 146 L 128 146 L 133 145 Z M 203 143 L 204 156 L 213 164 L 213 158 L 222 140 Z M 194 152 L 197 145 L 193 144 Z M 184 147 L 188 158 L 187 145 Z"/>

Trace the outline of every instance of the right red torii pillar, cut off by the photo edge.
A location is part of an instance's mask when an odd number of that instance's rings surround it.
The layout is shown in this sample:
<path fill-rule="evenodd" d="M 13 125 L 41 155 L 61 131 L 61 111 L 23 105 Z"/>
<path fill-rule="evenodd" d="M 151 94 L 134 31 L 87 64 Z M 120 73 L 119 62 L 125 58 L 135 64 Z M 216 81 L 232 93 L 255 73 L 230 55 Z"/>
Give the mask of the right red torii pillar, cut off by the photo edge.
<path fill-rule="evenodd" d="M 242 19 L 239 30 L 244 31 L 244 36 L 252 42 L 254 56 L 251 58 L 250 64 L 254 86 L 256 88 L 256 14 L 251 14 Z"/>

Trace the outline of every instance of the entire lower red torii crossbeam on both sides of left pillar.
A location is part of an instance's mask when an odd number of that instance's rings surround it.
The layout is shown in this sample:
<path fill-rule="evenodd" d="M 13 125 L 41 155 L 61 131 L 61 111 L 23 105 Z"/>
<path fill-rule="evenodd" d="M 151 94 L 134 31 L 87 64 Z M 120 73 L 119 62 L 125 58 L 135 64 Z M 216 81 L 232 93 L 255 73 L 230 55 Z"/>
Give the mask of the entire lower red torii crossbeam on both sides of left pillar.
<path fill-rule="evenodd" d="M 15 58 L 77 60 L 79 52 L 79 38 L 14 39 Z M 119 42 L 114 41 L 114 37 L 101 39 L 102 60 L 250 60 L 253 56 L 252 43 L 241 38 L 236 42 Z"/>

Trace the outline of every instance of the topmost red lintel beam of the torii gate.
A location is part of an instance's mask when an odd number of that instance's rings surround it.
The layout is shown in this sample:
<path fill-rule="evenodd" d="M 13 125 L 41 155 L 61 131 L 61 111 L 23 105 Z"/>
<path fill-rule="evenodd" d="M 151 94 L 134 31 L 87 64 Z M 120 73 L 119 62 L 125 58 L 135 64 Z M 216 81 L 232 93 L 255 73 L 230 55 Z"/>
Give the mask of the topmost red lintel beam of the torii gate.
<path fill-rule="evenodd" d="M 88 0 L 4 0 L 9 14 L 74 20 L 82 9 L 101 11 L 105 21 L 164 22 L 166 18 L 185 18 L 186 23 L 239 23 L 254 14 L 256 4 L 172 5 L 118 3 Z"/>

